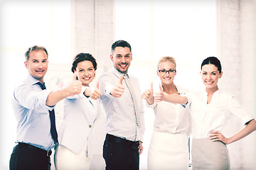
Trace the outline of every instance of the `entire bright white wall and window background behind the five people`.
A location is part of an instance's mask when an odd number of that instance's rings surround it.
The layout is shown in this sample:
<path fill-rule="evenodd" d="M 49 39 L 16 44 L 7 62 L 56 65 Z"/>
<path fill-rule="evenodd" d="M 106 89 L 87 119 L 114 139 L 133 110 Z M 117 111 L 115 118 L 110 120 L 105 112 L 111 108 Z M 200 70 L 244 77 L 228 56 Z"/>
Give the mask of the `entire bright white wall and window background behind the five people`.
<path fill-rule="evenodd" d="M 198 74 L 201 60 L 216 55 L 224 71 L 220 87 L 238 96 L 242 104 L 255 113 L 256 93 L 252 88 L 256 78 L 255 9 L 255 0 L 216 0 L 216 10 L 215 1 L 201 0 L 173 0 L 169 3 L 144 0 L 129 1 L 127 4 L 122 0 L 115 3 L 112 0 L 1 1 L 0 118 L 3 138 L 0 141 L 0 169 L 8 169 L 9 156 L 14 147 L 16 121 L 9 101 L 16 82 L 27 74 L 23 54 L 29 46 L 43 45 L 48 49 L 50 64 L 46 79 L 51 85 L 58 78 L 65 81 L 70 76 L 70 63 L 78 52 L 90 52 L 97 58 L 98 77 L 112 66 L 112 42 L 127 40 L 134 54 L 130 72 L 137 74 L 142 90 L 152 80 L 158 83 L 155 66 L 163 55 L 176 58 L 176 84 L 188 89 L 201 87 L 198 83 L 201 82 Z M 187 85 L 188 81 L 191 86 Z M 52 88 L 58 87 L 53 84 Z M 146 148 L 154 120 L 152 111 L 147 108 L 145 111 L 148 117 L 145 149 L 141 156 L 142 169 L 146 169 Z M 104 117 L 95 132 L 98 137 L 95 138 L 95 155 L 102 152 L 103 125 Z M 238 125 L 239 128 L 242 125 Z M 228 128 L 227 134 L 232 134 L 232 130 L 236 131 L 235 128 Z M 255 140 L 254 132 L 237 145 L 229 146 L 233 168 L 255 167 Z M 95 166 L 99 165 L 97 158 L 92 160 Z M 100 164 L 102 166 L 104 162 Z"/>

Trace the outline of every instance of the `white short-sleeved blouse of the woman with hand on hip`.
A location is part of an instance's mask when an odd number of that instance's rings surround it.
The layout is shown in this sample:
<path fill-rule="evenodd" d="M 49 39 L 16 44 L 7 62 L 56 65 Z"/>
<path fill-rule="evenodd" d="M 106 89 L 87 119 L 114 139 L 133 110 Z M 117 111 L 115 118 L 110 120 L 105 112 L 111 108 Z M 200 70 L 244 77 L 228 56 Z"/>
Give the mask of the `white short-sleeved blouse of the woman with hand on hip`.
<path fill-rule="evenodd" d="M 243 125 L 254 119 L 253 115 L 242 108 L 238 100 L 223 91 L 215 91 L 207 104 L 206 91 L 188 94 L 191 101 L 191 126 L 193 138 L 208 138 L 210 132 L 222 132 L 230 115 L 235 115 Z"/>

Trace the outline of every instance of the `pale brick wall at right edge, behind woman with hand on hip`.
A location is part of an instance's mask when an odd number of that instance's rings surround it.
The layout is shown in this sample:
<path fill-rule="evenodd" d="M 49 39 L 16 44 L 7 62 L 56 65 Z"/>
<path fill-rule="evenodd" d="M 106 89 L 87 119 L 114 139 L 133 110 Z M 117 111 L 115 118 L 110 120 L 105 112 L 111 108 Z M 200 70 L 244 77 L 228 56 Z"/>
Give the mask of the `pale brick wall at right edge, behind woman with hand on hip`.
<path fill-rule="evenodd" d="M 255 115 L 255 1 L 218 0 L 216 3 L 218 56 L 223 64 L 220 87 L 234 94 Z M 232 117 L 226 135 L 233 135 L 243 127 Z M 255 169 L 255 137 L 253 132 L 228 145 L 232 169 Z"/>

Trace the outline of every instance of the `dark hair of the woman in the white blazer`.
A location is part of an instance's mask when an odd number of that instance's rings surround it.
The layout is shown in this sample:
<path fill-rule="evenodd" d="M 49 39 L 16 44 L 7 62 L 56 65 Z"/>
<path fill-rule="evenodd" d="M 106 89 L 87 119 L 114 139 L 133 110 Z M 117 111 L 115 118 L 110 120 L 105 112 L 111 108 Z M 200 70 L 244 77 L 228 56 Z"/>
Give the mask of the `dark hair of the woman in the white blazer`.
<path fill-rule="evenodd" d="M 78 55 L 75 56 L 72 64 L 71 71 L 75 72 L 76 67 L 78 67 L 79 62 L 83 61 L 90 61 L 92 62 L 93 68 L 96 70 L 97 69 L 97 62 L 94 57 L 92 57 L 91 54 L 89 53 L 79 53 Z"/>

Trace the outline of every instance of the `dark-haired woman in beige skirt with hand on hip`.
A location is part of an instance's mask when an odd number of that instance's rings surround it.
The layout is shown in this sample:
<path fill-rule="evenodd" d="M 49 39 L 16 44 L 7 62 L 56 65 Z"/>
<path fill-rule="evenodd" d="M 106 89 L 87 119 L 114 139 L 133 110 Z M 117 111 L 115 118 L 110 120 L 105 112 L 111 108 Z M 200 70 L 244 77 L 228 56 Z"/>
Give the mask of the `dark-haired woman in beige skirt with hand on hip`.
<path fill-rule="evenodd" d="M 238 100 L 218 89 L 218 79 L 223 75 L 220 60 L 208 57 L 201 64 L 201 77 L 206 89 L 189 93 L 187 96 L 159 93 L 156 101 L 188 103 L 191 101 L 191 128 L 193 134 L 192 166 L 197 169 L 230 169 L 226 145 L 242 139 L 256 130 L 253 115 L 242 108 Z M 223 128 L 235 115 L 245 125 L 232 137 L 222 134 Z"/>

